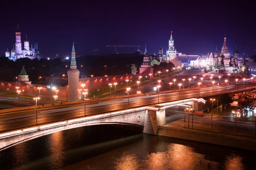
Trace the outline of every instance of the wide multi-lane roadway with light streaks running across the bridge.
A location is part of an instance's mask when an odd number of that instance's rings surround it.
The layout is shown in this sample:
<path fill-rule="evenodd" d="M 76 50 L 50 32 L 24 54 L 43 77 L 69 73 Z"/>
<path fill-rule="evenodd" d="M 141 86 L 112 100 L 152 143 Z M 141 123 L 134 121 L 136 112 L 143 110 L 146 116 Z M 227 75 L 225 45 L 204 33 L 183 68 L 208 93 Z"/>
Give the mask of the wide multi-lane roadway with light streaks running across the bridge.
<path fill-rule="evenodd" d="M 250 85 L 246 85 L 250 87 Z M 227 91 L 235 91 L 236 86 L 227 86 Z M 224 93 L 225 86 L 215 86 L 214 94 Z M 200 96 L 212 94 L 212 88 L 200 89 Z M 180 96 L 180 97 L 179 97 Z M 159 102 L 170 102 L 181 99 L 198 97 L 198 88 L 186 91 L 174 91 L 168 94 L 160 94 Z M 129 99 L 129 107 L 141 107 L 154 105 L 158 102 L 158 95 L 138 96 Z M 89 102 L 86 104 L 86 115 L 94 115 L 128 108 L 128 99 L 109 99 L 105 101 Z M 38 124 L 61 121 L 84 116 L 84 103 L 74 105 L 63 105 L 53 108 L 38 109 Z M 5 113 L 0 115 L 0 132 L 35 125 L 35 110 L 20 111 L 17 113 Z"/>

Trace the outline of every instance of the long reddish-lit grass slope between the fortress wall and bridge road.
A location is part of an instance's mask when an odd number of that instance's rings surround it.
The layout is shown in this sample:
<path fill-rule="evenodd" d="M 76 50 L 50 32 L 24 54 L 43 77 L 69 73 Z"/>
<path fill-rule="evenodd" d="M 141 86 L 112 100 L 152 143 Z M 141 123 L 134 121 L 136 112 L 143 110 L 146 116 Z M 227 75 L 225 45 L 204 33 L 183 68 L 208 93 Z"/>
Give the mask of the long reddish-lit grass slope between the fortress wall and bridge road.
<path fill-rule="evenodd" d="M 182 70 L 183 71 L 183 70 Z M 178 74 L 182 71 L 175 71 L 174 73 L 169 73 L 168 76 L 165 75 L 162 75 L 160 76 L 160 79 L 163 79 L 163 78 L 166 78 L 166 77 L 170 77 L 170 76 L 173 76 L 174 74 Z M 154 81 L 157 81 L 159 79 L 159 77 L 157 77 L 157 75 L 155 75 L 156 77 L 154 78 L 151 78 L 151 82 L 154 82 Z M 146 84 L 149 84 L 150 83 L 150 78 L 147 77 L 147 78 L 141 78 L 140 79 L 140 86 L 141 85 L 146 85 Z M 135 81 L 130 81 L 128 82 L 128 86 L 137 86 L 137 82 L 136 80 Z M 122 84 L 118 84 L 116 86 L 116 89 L 121 89 L 121 88 L 125 88 L 127 87 L 127 83 L 122 83 Z M 89 97 L 93 97 L 93 96 L 98 96 L 98 95 L 101 95 L 101 94 L 105 94 L 105 93 L 108 93 L 110 91 L 109 87 L 102 87 L 102 88 L 99 88 L 99 89 L 96 89 L 94 91 L 91 91 L 90 94 L 89 94 Z M 112 88 L 111 88 L 111 93 L 114 92 L 114 86 L 112 85 Z M 120 93 L 121 90 L 116 90 L 116 94 Z M 109 96 L 110 94 L 105 94 L 103 96 L 99 96 L 99 98 L 102 98 L 102 97 L 107 97 Z"/>

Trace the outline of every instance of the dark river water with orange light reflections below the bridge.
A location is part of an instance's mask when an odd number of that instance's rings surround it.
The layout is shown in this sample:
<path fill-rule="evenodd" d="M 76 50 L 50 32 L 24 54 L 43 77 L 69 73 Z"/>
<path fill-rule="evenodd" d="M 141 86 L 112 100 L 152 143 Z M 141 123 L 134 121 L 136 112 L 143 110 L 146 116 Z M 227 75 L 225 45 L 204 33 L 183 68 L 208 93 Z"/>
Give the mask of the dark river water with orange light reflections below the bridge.
<path fill-rule="evenodd" d="M 250 170 L 256 152 L 108 125 L 52 133 L 0 152 L 0 170 Z"/>

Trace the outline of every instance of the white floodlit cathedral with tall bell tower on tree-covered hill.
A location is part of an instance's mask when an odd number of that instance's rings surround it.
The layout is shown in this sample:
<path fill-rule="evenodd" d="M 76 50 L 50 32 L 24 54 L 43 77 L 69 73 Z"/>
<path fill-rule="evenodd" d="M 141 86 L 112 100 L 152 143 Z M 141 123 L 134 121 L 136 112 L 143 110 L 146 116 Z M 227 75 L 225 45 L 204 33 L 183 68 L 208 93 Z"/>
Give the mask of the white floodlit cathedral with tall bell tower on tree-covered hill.
<path fill-rule="evenodd" d="M 40 56 L 39 56 L 39 51 L 38 51 L 38 44 L 35 43 L 34 48 L 31 44 L 31 47 L 30 47 L 29 40 L 27 39 L 27 36 L 26 36 L 26 40 L 24 41 L 24 50 L 22 50 L 19 25 L 17 25 L 17 31 L 15 32 L 15 35 L 16 35 L 15 45 L 13 45 L 11 52 L 9 52 L 8 48 L 7 48 L 6 57 L 8 57 L 9 59 L 14 60 L 14 61 L 16 59 L 23 58 L 23 57 L 28 57 L 30 59 L 35 59 L 35 58 L 39 59 Z"/>

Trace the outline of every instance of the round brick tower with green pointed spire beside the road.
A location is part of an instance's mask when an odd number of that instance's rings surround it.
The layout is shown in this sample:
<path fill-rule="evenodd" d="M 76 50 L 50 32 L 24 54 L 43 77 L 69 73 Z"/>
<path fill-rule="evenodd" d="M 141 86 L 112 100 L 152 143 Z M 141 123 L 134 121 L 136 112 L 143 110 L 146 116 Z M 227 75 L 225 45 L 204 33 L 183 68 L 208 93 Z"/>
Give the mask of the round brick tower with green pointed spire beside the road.
<path fill-rule="evenodd" d="M 76 51 L 73 42 L 73 48 L 71 52 L 71 64 L 70 70 L 67 71 L 68 76 L 68 100 L 69 101 L 76 101 L 79 100 L 79 73 L 80 71 L 76 68 Z"/>

